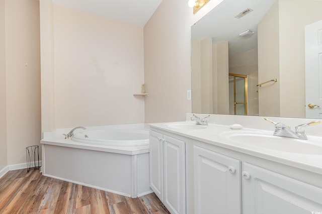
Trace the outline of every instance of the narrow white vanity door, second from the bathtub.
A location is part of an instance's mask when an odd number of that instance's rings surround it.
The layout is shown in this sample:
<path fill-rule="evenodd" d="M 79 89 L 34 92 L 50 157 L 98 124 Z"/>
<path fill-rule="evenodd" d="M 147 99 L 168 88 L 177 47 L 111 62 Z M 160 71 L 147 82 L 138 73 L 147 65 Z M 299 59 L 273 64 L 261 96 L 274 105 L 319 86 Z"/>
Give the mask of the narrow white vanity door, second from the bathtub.
<path fill-rule="evenodd" d="M 164 203 L 171 213 L 186 213 L 185 142 L 164 136 Z"/>

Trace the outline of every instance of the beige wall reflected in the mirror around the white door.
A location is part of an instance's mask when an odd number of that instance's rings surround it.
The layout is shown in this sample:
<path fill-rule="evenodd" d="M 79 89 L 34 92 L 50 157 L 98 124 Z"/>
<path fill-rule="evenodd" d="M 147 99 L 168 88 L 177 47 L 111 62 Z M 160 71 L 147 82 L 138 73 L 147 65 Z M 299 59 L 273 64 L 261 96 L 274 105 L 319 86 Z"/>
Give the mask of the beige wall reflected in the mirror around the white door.
<path fill-rule="evenodd" d="M 322 2 L 280 0 L 280 113 L 305 118 L 304 27 L 322 19 Z M 304 16 L 304 14 L 309 14 Z M 294 25 L 296 23 L 296 25 Z"/>

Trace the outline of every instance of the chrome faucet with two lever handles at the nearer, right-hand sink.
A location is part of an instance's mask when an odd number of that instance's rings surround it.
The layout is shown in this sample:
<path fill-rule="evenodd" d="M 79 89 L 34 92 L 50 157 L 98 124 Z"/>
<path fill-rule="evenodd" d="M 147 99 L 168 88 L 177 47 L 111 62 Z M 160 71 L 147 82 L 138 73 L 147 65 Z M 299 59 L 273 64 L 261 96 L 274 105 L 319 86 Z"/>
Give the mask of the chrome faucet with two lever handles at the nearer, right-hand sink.
<path fill-rule="evenodd" d="M 264 120 L 271 122 L 272 124 L 275 125 L 275 131 L 274 131 L 273 135 L 280 136 L 280 137 L 286 137 L 286 138 L 302 139 L 302 140 L 307 140 L 307 137 L 305 134 L 306 127 L 312 126 L 312 125 L 317 125 L 320 123 L 320 121 L 312 121 L 307 124 L 302 124 L 302 125 L 296 126 L 295 132 L 294 132 L 290 129 L 290 127 L 288 127 L 282 123 L 276 123 L 276 122 L 273 122 L 267 118 L 264 118 Z"/>

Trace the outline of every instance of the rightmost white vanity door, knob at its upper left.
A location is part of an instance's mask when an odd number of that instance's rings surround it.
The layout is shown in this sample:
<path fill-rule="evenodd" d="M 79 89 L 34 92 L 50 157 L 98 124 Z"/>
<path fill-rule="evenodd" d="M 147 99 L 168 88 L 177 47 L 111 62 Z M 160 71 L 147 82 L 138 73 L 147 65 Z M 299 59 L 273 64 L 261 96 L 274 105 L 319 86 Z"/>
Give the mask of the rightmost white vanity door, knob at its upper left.
<path fill-rule="evenodd" d="M 322 189 L 243 164 L 243 213 L 311 214 L 322 211 Z"/>

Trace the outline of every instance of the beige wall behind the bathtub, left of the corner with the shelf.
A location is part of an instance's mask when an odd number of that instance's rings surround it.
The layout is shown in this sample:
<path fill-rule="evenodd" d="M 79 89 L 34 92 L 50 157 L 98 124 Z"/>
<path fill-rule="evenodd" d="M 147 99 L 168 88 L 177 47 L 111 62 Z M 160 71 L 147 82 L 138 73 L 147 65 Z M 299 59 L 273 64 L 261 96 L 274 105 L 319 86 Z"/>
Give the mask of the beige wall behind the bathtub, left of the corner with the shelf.
<path fill-rule="evenodd" d="M 143 28 L 41 2 L 43 132 L 144 123 Z"/>

